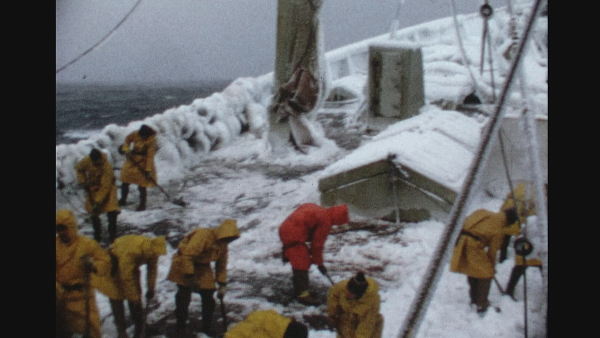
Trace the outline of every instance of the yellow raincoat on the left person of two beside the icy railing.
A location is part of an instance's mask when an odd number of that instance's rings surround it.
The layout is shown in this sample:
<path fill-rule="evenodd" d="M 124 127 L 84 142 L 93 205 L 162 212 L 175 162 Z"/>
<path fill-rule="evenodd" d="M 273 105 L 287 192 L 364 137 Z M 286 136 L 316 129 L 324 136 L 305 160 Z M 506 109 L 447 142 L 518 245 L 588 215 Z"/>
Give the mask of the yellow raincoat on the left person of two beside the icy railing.
<path fill-rule="evenodd" d="M 109 211 L 120 211 L 116 197 L 116 179 L 113 166 L 106 154 L 102 154 L 102 164 L 94 165 L 89 156 L 85 156 L 75 165 L 77 182 L 88 185 L 85 209 L 92 215 Z M 97 206 L 96 210 L 92 206 Z"/>

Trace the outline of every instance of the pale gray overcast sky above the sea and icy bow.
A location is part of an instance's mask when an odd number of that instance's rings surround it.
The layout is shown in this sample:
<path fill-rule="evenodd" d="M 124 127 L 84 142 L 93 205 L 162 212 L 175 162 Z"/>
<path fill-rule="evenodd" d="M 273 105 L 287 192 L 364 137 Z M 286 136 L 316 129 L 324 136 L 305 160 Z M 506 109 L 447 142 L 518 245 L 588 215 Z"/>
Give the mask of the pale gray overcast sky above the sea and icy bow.
<path fill-rule="evenodd" d="M 483 0 L 455 0 L 459 13 Z M 56 0 L 56 69 L 100 41 L 137 0 Z M 401 0 L 325 0 L 325 49 L 389 32 Z M 400 26 L 451 15 L 449 0 L 405 0 Z M 505 6 L 504 1 L 490 1 Z M 277 0 L 142 0 L 103 45 L 56 82 L 179 82 L 272 72 Z M 85 76 L 85 78 L 84 78 Z"/>

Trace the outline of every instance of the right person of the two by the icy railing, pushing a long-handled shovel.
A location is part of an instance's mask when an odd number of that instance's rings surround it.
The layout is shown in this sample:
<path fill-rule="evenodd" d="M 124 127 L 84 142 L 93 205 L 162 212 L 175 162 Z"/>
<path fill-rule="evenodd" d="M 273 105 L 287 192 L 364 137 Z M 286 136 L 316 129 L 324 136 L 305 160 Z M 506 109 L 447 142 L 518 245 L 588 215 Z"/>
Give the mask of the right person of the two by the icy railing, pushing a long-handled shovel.
<path fill-rule="evenodd" d="M 156 132 L 146 124 L 142 124 L 139 131 L 127 135 L 125 143 L 119 147 L 119 153 L 127 156 L 121 169 L 119 205 L 127 204 L 129 185 L 133 183 L 137 185 L 140 192 L 140 204 L 136 210 L 146 210 L 146 188 L 152 188 L 157 184 L 156 168 L 154 167 Z"/>

